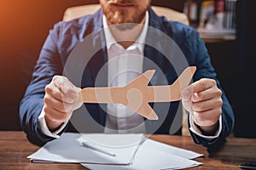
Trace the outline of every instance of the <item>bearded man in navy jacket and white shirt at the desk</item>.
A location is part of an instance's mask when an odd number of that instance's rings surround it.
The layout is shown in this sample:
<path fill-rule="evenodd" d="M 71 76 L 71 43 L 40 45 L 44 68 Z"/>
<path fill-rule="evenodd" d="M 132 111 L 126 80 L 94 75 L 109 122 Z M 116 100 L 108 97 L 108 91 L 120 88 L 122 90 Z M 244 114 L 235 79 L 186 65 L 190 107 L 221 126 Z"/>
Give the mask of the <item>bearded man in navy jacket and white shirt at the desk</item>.
<path fill-rule="evenodd" d="M 154 48 L 137 43 L 137 39 L 140 38 L 144 41 L 155 38 L 147 37 L 146 26 L 151 26 L 171 37 L 183 51 L 189 65 L 197 66 L 193 78 L 194 83 L 183 89 L 182 92 L 183 107 L 189 111 L 189 130 L 195 143 L 207 147 L 223 143 L 225 137 L 233 129 L 234 115 L 216 78 L 207 49 L 196 31 L 189 26 L 167 21 L 154 14 L 150 8 L 150 0 L 100 0 L 100 3 L 102 9 L 98 10 L 96 14 L 57 23 L 44 42 L 33 72 L 32 82 L 20 103 L 20 123 L 27 133 L 28 139 L 36 144 L 44 144 L 51 139 L 58 138 L 65 131 L 73 112 L 83 105 L 79 95 L 81 88 L 95 86 L 95 75 L 108 61 L 106 70 L 108 86 L 121 86 L 122 83 L 126 84 L 131 81 L 134 75 L 120 76 L 114 81 L 116 75 L 125 71 L 122 70 L 125 66 L 128 68 L 125 67 L 126 71 L 134 65 L 137 65 L 132 68 L 135 72 L 143 71 L 143 62 L 146 62 L 146 59 L 129 60 L 131 59 L 130 54 L 151 59 L 160 67 L 168 84 L 172 84 L 177 78 L 173 63 L 168 63 L 165 57 Z M 145 26 L 122 25 L 125 23 Z M 105 37 L 102 42 L 105 44 L 105 48 L 102 48 L 93 59 L 90 59 L 89 66 L 86 65 L 81 87 L 74 85 L 67 77 L 60 76 L 63 73 L 63 67 L 67 64 L 68 55 L 71 54 L 76 44 L 83 41 L 83 38 L 90 33 L 108 26 L 110 28 L 104 30 Z M 129 31 L 132 31 L 132 34 L 128 34 Z M 125 40 L 124 37 L 129 41 L 119 41 Z M 94 38 L 96 37 L 92 37 L 92 41 Z M 112 40 L 115 43 L 109 43 Z M 166 44 L 162 44 L 162 46 L 164 45 Z M 126 53 L 127 55 L 123 58 L 115 58 Z M 119 61 L 114 62 L 114 59 L 119 59 Z M 125 59 L 127 60 L 125 61 Z M 162 124 L 153 133 L 169 133 L 177 106 L 177 102 L 171 102 Z M 119 130 L 120 132 L 129 132 L 129 129 L 140 127 L 145 121 L 138 114 L 127 116 L 127 111 L 117 105 L 108 105 L 106 111 L 102 111 L 99 105 L 87 105 L 87 108 L 90 111 L 90 116 L 106 127 L 105 132 L 112 130 L 114 132 L 119 132 Z M 122 111 L 125 111 L 125 118 L 116 115 Z M 144 127 L 141 126 L 141 128 Z"/>

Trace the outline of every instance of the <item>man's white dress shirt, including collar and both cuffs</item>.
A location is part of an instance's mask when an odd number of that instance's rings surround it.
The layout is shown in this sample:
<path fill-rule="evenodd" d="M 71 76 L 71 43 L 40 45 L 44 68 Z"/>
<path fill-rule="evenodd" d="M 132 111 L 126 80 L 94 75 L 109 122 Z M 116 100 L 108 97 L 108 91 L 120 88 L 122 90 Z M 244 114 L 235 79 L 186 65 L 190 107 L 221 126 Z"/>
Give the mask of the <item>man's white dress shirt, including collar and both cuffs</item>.
<path fill-rule="evenodd" d="M 131 82 L 134 78 L 139 76 L 143 71 L 143 50 L 147 35 L 148 26 L 148 12 L 145 18 L 145 27 L 137 42 L 134 42 L 129 48 L 123 48 L 114 39 L 111 31 L 108 29 L 108 23 L 105 15 L 103 15 L 103 27 L 105 28 L 105 39 L 108 50 L 108 87 L 123 87 Z M 124 105 L 108 104 L 105 133 L 143 133 L 145 131 L 145 124 L 143 116 L 138 115 L 134 111 L 126 108 Z M 38 117 L 39 126 L 45 135 L 53 138 L 59 138 L 57 135 L 67 125 L 63 123 L 61 127 L 55 131 L 50 132 L 44 119 L 44 111 Z M 186 122 L 185 122 L 186 123 Z M 213 136 L 206 136 L 201 133 L 201 130 L 195 126 L 193 118 L 189 119 L 190 130 L 205 139 L 218 138 L 221 132 L 222 122 L 221 116 L 219 118 L 218 131 Z"/>

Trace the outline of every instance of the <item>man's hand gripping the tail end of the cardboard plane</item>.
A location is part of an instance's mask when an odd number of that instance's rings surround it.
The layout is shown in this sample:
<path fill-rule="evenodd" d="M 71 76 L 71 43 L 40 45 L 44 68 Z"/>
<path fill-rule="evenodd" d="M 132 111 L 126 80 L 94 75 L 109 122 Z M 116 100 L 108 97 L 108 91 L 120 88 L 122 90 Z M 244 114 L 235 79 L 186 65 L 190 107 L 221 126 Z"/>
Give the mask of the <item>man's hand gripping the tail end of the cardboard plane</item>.
<path fill-rule="evenodd" d="M 212 133 L 222 113 L 222 91 L 212 79 L 202 78 L 183 89 L 182 101 L 196 125 L 205 133 Z"/>

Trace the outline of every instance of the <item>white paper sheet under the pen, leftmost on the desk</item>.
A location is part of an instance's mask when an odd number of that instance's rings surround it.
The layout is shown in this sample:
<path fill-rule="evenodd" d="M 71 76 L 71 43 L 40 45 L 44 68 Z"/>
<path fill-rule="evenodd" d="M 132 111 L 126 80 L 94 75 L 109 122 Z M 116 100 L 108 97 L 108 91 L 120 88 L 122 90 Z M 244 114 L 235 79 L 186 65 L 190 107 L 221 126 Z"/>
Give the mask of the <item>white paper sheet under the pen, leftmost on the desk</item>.
<path fill-rule="evenodd" d="M 137 150 L 143 134 L 107 134 L 107 133 L 64 133 L 27 158 L 32 162 L 65 162 L 65 163 L 102 163 L 129 164 Z M 108 156 L 99 151 L 84 147 L 82 141 L 95 142 L 102 150 L 113 152 Z"/>

